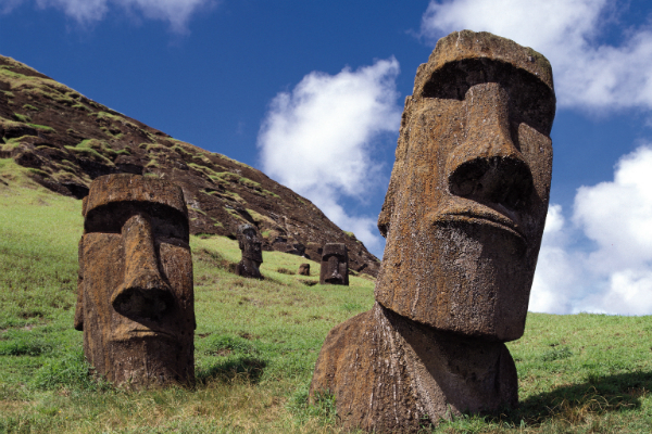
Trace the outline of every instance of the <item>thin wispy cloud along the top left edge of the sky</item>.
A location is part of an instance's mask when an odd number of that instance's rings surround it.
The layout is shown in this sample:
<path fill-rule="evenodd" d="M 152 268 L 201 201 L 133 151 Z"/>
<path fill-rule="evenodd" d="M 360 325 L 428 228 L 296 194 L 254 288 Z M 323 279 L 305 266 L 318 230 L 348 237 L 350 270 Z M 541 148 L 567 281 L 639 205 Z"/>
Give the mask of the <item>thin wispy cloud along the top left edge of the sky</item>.
<path fill-rule="evenodd" d="M 101 21 L 110 9 L 138 11 L 146 18 L 170 23 L 176 33 L 187 30 L 190 16 L 217 0 L 35 0 L 40 9 L 55 8 L 80 24 Z M 26 0 L 0 0 L 0 12 L 9 13 Z"/>

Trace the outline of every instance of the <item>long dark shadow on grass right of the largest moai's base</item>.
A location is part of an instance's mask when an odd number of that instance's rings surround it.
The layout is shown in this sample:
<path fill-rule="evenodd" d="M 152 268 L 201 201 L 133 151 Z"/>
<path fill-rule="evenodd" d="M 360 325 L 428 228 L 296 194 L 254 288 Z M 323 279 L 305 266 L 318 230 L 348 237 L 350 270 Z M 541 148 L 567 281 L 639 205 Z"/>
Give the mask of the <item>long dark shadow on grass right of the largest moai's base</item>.
<path fill-rule="evenodd" d="M 522 421 L 537 425 L 551 420 L 581 423 L 590 414 L 631 411 L 641 407 L 641 397 L 652 392 L 652 372 L 589 375 L 581 384 L 557 387 L 530 396 L 519 408 L 487 416 L 487 421 L 518 426 Z"/>

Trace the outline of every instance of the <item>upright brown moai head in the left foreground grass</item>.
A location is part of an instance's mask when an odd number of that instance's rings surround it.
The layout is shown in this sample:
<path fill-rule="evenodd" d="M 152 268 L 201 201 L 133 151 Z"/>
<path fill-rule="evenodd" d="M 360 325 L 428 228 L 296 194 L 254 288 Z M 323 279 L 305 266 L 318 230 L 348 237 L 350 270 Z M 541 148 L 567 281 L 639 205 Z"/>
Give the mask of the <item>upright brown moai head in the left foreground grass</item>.
<path fill-rule="evenodd" d="M 75 329 L 115 384 L 195 381 L 188 209 L 179 187 L 139 175 L 97 178 L 84 200 Z"/>

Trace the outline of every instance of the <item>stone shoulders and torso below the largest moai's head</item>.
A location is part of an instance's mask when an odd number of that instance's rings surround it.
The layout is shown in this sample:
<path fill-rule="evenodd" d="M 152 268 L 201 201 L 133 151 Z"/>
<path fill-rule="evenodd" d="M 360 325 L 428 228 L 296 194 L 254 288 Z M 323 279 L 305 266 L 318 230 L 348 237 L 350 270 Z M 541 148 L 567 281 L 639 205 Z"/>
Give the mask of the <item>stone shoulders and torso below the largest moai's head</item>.
<path fill-rule="evenodd" d="M 517 384 L 503 343 L 438 332 L 376 303 L 328 333 L 310 394 L 334 393 L 347 429 L 406 433 L 515 406 Z"/>

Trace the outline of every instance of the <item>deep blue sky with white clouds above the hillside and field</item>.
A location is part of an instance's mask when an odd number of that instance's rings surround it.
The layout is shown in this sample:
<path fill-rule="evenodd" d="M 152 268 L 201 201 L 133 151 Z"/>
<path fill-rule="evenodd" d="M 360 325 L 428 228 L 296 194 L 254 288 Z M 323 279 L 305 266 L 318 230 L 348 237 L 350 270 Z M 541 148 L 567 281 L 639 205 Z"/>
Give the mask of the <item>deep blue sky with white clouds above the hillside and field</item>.
<path fill-rule="evenodd" d="M 530 309 L 652 314 L 652 3 L 0 0 L 0 54 L 305 195 L 377 256 L 403 100 L 438 38 L 543 53 L 557 95 Z"/>

